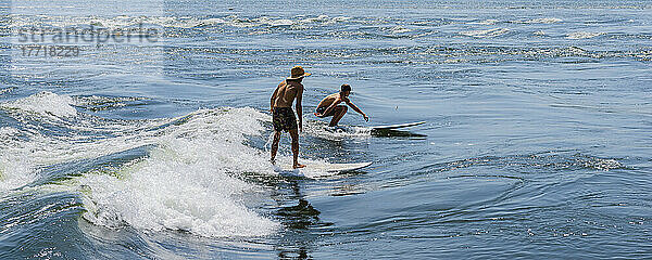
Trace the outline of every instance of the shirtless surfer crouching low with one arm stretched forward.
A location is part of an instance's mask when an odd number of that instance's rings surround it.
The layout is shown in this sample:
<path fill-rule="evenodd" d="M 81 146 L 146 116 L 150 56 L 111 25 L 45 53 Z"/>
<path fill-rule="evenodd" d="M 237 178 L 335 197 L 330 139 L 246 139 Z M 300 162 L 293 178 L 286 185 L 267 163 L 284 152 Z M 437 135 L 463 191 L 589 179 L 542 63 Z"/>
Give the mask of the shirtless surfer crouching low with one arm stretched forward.
<path fill-rule="evenodd" d="M 339 93 L 329 94 L 324 98 L 322 102 L 319 102 L 319 105 L 317 105 L 317 109 L 315 110 L 315 116 L 319 118 L 331 116 L 333 119 L 330 119 L 328 127 L 335 127 L 339 120 L 344 117 L 344 114 L 347 114 L 348 107 L 346 105 L 339 105 L 340 103 L 344 102 L 347 105 L 353 108 L 353 110 L 360 113 L 365 121 L 369 121 L 369 117 L 367 117 L 360 108 L 358 108 L 358 106 L 355 106 L 355 104 L 349 100 L 349 94 L 351 94 L 351 86 L 342 84 Z"/>

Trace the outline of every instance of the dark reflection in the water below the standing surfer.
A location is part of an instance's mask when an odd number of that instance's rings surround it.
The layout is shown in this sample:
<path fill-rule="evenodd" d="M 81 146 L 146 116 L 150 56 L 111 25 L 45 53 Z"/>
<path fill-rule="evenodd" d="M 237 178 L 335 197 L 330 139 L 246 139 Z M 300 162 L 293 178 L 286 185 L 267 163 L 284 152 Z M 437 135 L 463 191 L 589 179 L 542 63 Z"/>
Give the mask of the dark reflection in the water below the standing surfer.
<path fill-rule="evenodd" d="M 297 202 L 296 205 L 280 207 L 276 214 L 280 217 L 281 223 L 287 229 L 283 239 L 276 245 L 279 259 L 312 259 L 310 251 L 313 249 L 313 242 L 318 234 L 311 234 L 310 229 L 315 226 L 328 226 L 331 223 L 323 223 L 319 220 L 319 210 L 304 199 L 300 191 L 300 180 L 289 180 L 288 188 L 284 191 L 291 194 L 279 194 L 281 204 L 287 204 L 286 199 Z M 285 200 L 285 202 L 284 202 Z M 308 237 L 308 239 L 306 239 Z"/>

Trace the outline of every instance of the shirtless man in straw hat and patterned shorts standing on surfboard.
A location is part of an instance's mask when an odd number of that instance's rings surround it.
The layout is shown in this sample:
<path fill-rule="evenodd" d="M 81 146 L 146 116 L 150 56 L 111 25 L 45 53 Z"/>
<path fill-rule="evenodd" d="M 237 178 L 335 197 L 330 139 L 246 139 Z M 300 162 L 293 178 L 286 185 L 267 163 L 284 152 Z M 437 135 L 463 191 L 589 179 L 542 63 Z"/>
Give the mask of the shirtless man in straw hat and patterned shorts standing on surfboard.
<path fill-rule="evenodd" d="M 269 161 L 276 164 L 276 152 L 278 151 L 278 141 L 283 131 L 290 132 L 292 139 L 292 168 L 303 168 L 304 165 L 297 161 L 299 157 L 299 131 L 303 129 L 303 115 L 301 112 L 301 99 L 303 95 L 303 84 L 301 81 L 311 74 L 305 73 L 301 66 L 294 66 L 290 70 L 290 77 L 276 87 L 272 94 L 269 112 L 272 112 L 272 122 L 274 123 L 274 142 L 272 143 L 272 158 Z M 292 103 L 297 99 L 297 114 L 299 116 L 299 126 L 297 117 L 292 112 Z"/>

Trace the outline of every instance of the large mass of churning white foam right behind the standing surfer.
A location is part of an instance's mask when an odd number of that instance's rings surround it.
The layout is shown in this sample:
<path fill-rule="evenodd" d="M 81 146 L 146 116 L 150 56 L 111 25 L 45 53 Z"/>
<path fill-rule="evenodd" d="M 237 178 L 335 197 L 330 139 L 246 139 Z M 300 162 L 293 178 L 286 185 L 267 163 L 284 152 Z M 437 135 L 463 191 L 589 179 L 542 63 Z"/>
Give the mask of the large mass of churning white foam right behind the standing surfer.
<path fill-rule="evenodd" d="M 181 230 L 203 236 L 267 235 L 278 224 L 237 203 L 258 190 L 235 176 L 275 174 L 266 154 L 243 144 L 265 115 L 251 108 L 200 110 L 171 127 L 150 156 L 113 174 L 87 174 L 84 214 L 105 226 Z M 235 174 L 235 176 L 234 176 Z"/>

